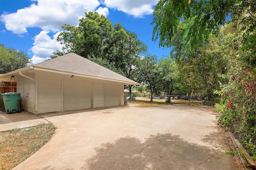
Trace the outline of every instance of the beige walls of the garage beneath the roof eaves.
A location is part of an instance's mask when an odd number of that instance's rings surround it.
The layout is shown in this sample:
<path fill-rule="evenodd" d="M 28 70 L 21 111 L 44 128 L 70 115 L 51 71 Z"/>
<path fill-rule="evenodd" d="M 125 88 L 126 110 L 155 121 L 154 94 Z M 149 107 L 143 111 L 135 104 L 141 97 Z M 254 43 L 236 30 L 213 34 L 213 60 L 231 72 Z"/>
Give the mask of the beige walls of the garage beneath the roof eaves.
<path fill-rule="evenodd" d="M 36 76 L 28 75 L 38 81 L 36 112 L 36 82 L 24 77 L 18 77 L 17 92 L 21 94 L 21 104 L 24 103 L 24 81 L 26 79 L 28 107 L 31 113 L 61 112 L 78 109 L 98 108 L 123 105 L 123 84 L 88 79 L 70 75 L 37 71 Z"/>

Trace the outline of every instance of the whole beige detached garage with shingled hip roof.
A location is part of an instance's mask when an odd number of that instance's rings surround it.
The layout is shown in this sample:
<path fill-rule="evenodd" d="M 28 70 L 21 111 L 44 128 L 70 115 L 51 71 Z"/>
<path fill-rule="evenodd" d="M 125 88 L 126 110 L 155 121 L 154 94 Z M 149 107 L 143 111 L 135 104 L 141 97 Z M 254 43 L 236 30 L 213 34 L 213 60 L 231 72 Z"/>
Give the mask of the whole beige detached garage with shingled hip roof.
<path fill-rule="evenodd" d="M 30 113 L 123 105 L 124 85 L 139 84 L 75 53 L 0 75 L 10 78 Z"/>

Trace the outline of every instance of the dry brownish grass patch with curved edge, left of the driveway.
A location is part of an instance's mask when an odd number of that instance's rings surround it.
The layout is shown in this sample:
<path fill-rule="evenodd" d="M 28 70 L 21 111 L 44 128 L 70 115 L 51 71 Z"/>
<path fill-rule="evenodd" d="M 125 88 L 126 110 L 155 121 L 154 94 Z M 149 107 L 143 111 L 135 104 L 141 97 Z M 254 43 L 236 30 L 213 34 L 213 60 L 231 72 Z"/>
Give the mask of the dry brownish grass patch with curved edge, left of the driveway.
<path fill-rule="evenodd" d="M 50 140 L 55 129 L 52 123 L 41 123 L 0 132 L 0 169 L 10 170 L 26 160 Z"/>

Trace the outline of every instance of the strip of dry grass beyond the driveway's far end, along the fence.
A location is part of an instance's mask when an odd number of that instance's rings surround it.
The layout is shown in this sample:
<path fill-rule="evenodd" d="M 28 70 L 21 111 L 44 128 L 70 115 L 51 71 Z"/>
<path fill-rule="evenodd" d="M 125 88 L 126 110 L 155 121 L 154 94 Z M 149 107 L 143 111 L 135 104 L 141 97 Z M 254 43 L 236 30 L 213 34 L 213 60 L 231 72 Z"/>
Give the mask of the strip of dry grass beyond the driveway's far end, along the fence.
<path fill-rule="evenodd" d="M 153 102 L 150 102 L 150 98 L 146 97 L 136 97 L 135 101 L 129 101 L 129 103 L 139 104 L 138 107 L 158 107 L 163 105 L 203 105 L 202 101 L 190 101 L 190 100 L 181 100 L 181 99 L 172 99 L 172 103 L 165 103 L 165 99 L 153 99 Z"/>

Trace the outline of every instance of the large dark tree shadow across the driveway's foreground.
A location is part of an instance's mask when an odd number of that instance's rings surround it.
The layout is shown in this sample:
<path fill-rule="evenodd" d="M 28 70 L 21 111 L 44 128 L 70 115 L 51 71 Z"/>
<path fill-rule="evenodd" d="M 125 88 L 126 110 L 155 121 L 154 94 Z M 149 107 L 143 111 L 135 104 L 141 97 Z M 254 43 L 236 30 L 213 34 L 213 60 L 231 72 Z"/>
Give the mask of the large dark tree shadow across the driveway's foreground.
<path fill-rule="evenodd" d="M 205 140 L 218 138 L 220 137 L 215 135 L 206 136 Z M 119 138 L 114 144 L 102 144 L 95 150 L 96 156 L 86 160 L 82 169 L 235 169 L 230 155 L 226 156 L 219 150 L 188 143 L 179 135 L 170 133 L 151 135 L 144 143 L 138 138 L 127 136 Z"/>

